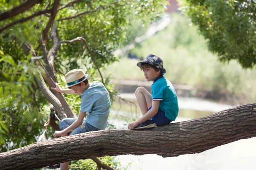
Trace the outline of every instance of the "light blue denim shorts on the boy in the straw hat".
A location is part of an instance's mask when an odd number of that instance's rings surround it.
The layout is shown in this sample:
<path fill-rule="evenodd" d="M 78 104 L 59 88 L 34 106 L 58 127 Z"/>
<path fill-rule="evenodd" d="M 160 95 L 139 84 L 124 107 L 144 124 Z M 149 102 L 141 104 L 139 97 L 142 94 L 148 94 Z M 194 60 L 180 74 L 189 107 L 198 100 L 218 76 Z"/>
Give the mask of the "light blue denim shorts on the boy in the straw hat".
<path fill-rule="evenodd" d="M 61 130 L 66 129 L 67 127 L 69 127 L 73 122 L 75 122 L 77 119 L 77 117 L 73 117 L 73 118 L 65 118 L 60 120 L 59 122 L 59 126 Z M 83 126 L 84 125 L 84 126 Z M 82 127 L 81 127 L 82 126 Z M 83 128 L 84 127 L 84 128 Z M 85 122 L 85 118 L 82 122 L 82 125 L 80 125 L 79 127 L 76 127 L 76 129 L 74 129 L 70 135 L 76 135 L 79 133 L 85 133 L 85 132 L 90 132 L 90 131 L 97 131 L 100 130 L 96 127 L 94 127 L 93 125 L 90 125 L 89 123 Z"/>

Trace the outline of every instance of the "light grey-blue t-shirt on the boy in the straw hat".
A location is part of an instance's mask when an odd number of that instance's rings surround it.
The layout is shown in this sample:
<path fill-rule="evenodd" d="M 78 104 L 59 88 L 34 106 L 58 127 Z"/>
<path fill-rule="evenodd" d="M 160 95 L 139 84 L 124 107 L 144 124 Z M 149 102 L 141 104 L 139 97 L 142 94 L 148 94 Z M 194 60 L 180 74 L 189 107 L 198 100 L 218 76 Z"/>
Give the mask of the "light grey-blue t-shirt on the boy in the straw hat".
<path fill-rule="evenodd" d="M 108 124 L 110 97 L 102 82 L 94 81 L 81 96 L 80 111 L 87 112 L 85 122 L 104 130 Z"/>

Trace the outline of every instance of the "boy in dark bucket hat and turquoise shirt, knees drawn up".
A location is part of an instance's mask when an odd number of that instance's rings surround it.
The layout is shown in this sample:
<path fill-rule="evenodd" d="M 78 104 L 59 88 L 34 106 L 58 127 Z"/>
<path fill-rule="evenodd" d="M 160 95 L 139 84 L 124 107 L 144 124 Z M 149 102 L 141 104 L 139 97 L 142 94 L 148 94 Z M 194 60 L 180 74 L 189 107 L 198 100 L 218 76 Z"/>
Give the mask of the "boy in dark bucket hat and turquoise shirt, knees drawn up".
<path fill-rule="evenodd" d="M 163 77 L 166 73 L 163 60 L 150 54 L 143 62 L 138 62 L 137 66 L 143 71 L 147 81 L 153 81 L 152 95 L 144 87 L 136 89 L 135 96 L 143 116 L 129 123 L 128 128 L 147 129 L 174 121 L 179 111 L 177 95 L 172 83 Z"/>

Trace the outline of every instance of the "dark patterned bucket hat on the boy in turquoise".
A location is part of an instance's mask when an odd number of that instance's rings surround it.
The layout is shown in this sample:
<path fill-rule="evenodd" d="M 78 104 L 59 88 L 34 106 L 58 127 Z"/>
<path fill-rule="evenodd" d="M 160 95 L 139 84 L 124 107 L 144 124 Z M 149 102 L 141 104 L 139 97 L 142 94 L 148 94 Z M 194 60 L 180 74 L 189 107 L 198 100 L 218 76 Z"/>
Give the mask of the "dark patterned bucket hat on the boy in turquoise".
<path fill-rule="evenodd" d="M 157 57 L 153 54 L 149 54 L 146 59 L 143 61 L 144 63 L 151 64 L 162 71 L 163 75 L 166 73 L 166 70 L 163 68 L 163 60 L 160 57 Z M 138 62 L 137 66 L 140 67 L 143 62 Z"/>

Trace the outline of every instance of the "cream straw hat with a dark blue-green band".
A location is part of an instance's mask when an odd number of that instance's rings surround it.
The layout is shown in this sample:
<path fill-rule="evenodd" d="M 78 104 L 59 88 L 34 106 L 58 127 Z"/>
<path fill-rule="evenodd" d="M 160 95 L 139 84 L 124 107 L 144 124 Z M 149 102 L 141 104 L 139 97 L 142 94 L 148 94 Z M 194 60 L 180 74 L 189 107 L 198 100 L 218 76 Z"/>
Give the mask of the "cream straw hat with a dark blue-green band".
<path fill-rule="evenodd" d="M 87 77 L 88 77 L 88 74 L 85 74 L 82 69 L 79 69 L 79 68 L 73 69 L 65 75 L 65 79 L 67 82 L 67 85 L 65 86 L 65 88 L 69 88 L 73 85 L 77 85 L 83 82 L 84 80 L 86 80 Z"/>

